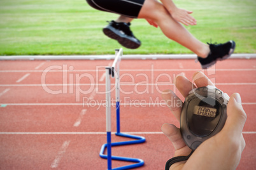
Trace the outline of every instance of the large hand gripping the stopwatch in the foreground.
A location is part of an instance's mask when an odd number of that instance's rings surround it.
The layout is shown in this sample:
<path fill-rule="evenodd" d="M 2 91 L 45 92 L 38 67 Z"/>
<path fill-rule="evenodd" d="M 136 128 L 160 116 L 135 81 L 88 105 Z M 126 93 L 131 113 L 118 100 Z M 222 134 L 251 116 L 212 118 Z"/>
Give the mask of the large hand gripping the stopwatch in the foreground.
<path fill-rule="evenodd" d="M 193 82 L 195 85 L 180 75 L 176 77 L 175 86 L 184 97 L 194 88 L 214 86 L 202 72 L 194 74 Z M 167 106 L 176 119 L 180 121 L 182 108 L 180 98 L 171 90 L 164 91 L 162 98 L 166 100 Z M 171 103 L 176 103 L 176 105 L 171 105 Z M 222 131 L 204 141 L 187 161 L 177 162 L 170 169 L 236 169 L 241 159 L 241 153 L 245 148 L 242 134 L 245 121 L 246 114 L 241 105 L 241 98 L 238 93 L 234 93 L 227 105 L 227 121 Z M 183 141 L 179 128 L 173 124 L 163 124 L 161 129 L 173 143 L 174 157 L 190 154 L 191 150 Z"/>

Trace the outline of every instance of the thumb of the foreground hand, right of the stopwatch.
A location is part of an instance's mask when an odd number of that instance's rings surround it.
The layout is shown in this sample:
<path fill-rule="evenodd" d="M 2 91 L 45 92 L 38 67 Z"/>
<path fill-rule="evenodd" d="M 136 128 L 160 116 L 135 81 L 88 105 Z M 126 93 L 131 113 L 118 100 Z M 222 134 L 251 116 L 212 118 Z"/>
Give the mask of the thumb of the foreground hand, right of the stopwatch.
<path fill-rule="evenodd" d="M 241 105 L 241 97 L 238 93 L 231 95 L 227 104 L 227 121 L 224 125 L 224 132 L 234 138 L 239 138 L 245 126 L 246 113 Z"/>

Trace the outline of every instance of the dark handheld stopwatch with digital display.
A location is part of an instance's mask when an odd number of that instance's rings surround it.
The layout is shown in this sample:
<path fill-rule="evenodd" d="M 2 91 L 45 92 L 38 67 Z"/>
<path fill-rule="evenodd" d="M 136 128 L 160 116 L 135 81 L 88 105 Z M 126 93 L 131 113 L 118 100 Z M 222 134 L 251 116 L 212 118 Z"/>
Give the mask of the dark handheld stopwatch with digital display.
<path fill-rule="evenodd" d="M 180 119 L 181 136 L 192 150 L 217 134 L 227 119 L 229 96 L 207 86 L 192 89 L 185 98 Z"/>

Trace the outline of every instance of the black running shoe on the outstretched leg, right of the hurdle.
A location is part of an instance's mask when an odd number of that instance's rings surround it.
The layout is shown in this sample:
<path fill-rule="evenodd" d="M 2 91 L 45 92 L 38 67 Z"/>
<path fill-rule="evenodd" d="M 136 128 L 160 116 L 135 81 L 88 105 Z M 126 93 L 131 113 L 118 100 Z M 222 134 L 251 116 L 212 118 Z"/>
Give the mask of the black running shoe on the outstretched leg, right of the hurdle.
<path fill-rule="evenodd" d="M 225 44 L 210 44 L 210 54 L 206 58 L 201 58 L 197 56 L 197 60 L 201 63 L 203 69 L 207 69 L 214 65 L 217 60 L 225 60 L 229 58 L 236 48 L 236 43 L 234 41 L 228 41 Z"/>

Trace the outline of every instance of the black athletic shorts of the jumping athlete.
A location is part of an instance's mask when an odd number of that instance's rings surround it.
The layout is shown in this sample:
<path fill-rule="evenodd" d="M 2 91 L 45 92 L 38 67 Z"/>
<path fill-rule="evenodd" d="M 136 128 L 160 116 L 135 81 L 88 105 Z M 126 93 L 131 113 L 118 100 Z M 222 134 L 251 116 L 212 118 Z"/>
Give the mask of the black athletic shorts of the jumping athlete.
<path fill-rule="evenodd" d="M 86 0 L 96 10 L 138 18 L 145 0 Z"/>

